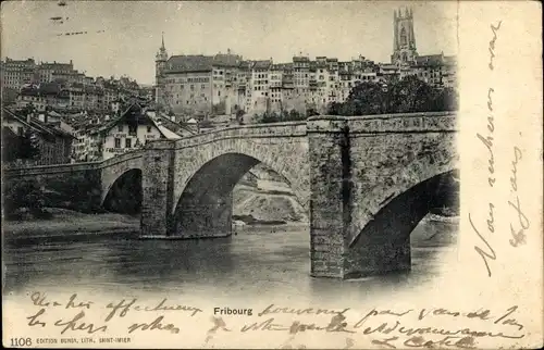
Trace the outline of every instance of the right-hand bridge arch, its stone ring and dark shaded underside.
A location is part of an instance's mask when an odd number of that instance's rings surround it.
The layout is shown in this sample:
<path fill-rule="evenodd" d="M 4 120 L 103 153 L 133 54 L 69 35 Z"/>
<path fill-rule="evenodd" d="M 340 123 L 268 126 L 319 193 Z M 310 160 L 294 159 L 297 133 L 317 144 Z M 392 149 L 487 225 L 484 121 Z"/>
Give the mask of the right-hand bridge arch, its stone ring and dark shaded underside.
<path fill-rule="evenodd" d="M 457 161 L 426 154 L 368 189 L 348 225 L 345 278 L 411 268 L 413 229 L 433 210 L 459 204 Z"/>

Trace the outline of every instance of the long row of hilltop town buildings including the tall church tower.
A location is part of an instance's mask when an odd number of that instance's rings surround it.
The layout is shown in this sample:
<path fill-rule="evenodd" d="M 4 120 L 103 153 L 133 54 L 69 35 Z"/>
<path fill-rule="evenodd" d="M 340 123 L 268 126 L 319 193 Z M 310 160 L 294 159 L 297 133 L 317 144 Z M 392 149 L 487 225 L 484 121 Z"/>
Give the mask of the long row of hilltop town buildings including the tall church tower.
<path fill-rule="evenodd" d="M 370 82 L 384 86 L 417 75 L 438 88 L 456 86 L 456 59 L 441 54 L 419 55 L 411 9 L 393 13 L 391 62 L 374 63 L 364 57 L 337 58 L 302 53 L 292 62 L 243 60 L 232 54 L 172 55 L 162 38 L 156 55 L 156 101 L 185 120 L 310 110 L 325 113 L 333 102 L 344 102 L 351 89 Z M 231 117 L 234 120 L 234 117 Z"/>

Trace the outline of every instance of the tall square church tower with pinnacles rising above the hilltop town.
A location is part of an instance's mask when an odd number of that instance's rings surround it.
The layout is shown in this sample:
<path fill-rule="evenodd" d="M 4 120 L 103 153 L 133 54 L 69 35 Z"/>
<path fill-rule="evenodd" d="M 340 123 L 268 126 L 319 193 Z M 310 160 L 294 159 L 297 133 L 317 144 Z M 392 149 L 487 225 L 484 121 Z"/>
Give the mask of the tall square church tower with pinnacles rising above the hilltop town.
<path fill-rule="evenodd" d="M 413 13 L 411 9 L 395 10 L 393 14 L 393 54 L 391 63 L 410 64 L 416 61 L 416 36 L 413 35 Z"/>

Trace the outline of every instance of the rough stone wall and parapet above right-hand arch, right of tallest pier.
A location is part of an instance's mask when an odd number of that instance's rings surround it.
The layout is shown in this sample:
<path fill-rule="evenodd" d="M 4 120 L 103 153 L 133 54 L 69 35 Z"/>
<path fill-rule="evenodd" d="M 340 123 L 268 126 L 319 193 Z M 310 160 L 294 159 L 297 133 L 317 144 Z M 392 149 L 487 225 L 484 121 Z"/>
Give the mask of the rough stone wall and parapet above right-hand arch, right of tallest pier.
<path fill-rule="evenodd" d="M 413 113 L 347 120 L 351 166 L 353 243 L 395 197 L 458 166 L 453 113 Z"/>

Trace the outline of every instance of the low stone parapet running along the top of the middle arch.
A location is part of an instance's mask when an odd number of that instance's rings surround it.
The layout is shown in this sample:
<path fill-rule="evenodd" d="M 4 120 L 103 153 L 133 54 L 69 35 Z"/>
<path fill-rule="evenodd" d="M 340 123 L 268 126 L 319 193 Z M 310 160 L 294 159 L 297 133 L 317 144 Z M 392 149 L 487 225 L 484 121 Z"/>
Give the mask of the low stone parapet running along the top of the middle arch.
<path fill-rule="evenodd" d="M 175 149 L 225 139 L 299 136 L 306 136 L 306 122 L 240 125 L 184 137 L 175 141 Z"/>

